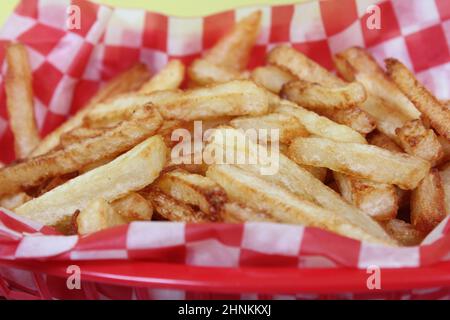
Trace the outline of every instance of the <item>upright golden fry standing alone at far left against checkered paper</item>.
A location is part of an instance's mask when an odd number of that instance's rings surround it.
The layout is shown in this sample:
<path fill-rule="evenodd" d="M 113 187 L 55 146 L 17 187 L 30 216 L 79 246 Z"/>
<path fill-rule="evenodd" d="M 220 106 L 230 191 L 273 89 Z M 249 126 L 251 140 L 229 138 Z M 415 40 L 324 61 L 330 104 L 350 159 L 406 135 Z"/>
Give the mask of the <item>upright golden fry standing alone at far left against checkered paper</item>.
<path fill-rule="evenodd" d="M 17 158 L 27 157 L 39 144 L 34 116 L 31 67 L 26 48 L 13 44 L 6 49 L 6 106 Z"/>

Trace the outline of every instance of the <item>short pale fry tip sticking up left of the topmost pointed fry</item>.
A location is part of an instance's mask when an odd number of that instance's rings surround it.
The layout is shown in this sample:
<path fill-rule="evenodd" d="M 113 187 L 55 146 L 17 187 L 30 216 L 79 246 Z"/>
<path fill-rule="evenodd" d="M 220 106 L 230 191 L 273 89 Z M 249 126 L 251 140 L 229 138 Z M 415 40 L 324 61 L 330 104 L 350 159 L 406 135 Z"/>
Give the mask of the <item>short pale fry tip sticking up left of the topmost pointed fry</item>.
<path fill-rule="evenodd" d="M 185 67 L 180 60 L 171 60 L 166 66 L 144 83 L 139 93 L 146 94 L 159 90 L 178 89 L 184 79 Z"/>

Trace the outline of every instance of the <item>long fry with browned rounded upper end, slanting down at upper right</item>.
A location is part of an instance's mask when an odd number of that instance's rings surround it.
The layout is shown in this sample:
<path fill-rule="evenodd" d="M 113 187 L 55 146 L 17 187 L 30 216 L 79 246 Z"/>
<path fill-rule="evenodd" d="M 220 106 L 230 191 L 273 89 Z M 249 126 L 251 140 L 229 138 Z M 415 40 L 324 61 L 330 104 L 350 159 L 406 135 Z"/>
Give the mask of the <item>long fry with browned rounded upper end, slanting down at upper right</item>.
<path fill-rule="evenodd" d="M 366 49 L 352 47 L 344 50 L 335 55 L 334 62 L 344 79 L 362 83 L 370 95 L 381 98 L 384 104 L 403 114 L 407 121 L 420 118 L 420 112 Z"/>

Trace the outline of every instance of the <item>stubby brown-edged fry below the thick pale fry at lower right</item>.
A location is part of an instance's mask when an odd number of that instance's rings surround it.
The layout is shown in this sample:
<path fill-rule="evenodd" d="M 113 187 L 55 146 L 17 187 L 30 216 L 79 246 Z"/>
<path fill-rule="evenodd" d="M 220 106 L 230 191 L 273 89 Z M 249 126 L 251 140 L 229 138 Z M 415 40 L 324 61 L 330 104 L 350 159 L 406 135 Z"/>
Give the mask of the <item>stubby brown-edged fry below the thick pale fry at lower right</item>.
<path fill-rule="evenodd" d="M 374 183 L 334 172 L 342 197 L 353 203 L 377 221 L 395 218 L 398 210 L 398 195 L 395 186 Z"/>

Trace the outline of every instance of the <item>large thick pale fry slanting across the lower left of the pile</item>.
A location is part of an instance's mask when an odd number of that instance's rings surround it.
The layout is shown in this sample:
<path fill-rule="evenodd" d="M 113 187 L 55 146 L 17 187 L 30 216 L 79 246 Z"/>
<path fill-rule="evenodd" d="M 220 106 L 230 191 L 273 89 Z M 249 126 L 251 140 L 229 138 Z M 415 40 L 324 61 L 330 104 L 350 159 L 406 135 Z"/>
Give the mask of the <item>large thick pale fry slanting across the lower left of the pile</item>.
<path fill-rule="evenodd" d="M 152 183 L 166 161 L 160 136 L 148 138 L 110 163 L 78 176 L 15 209 L 19 215 L 57 225 L 95 198 L 114 201 Z"/>

